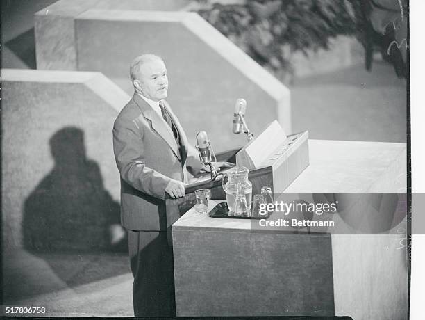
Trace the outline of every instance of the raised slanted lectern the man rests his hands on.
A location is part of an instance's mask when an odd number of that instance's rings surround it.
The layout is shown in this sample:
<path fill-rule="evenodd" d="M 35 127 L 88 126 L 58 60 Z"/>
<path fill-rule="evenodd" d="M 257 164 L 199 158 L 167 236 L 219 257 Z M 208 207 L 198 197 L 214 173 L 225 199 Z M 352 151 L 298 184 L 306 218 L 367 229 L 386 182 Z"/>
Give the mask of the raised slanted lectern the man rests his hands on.
<path fill-rule="evenodd" d="M 263 186 L 272 192 L 282 192 L 308 166 L 308 131 L 286 136 L 285 131 L 275 120 L 252 141 L 240 149 L 228 150 L 216 155 L 217 161 L 228 161 L 236 166 L 249 168 L 248 179 L 252 184 L 252 194 L 260 193 Z M 225 173 L 226 169 L 222 171 Z M 200 178 L 185 186 L 185 196 L 170 198 L 165 195 L 168 242 L 172 244 L 172 224 L 183 216 L 196 203 L 194 191 L 210 189 L 211 199 L 226 200 L 222 180 Z M 199 177 L 198 177 L 199 178 Z"/>

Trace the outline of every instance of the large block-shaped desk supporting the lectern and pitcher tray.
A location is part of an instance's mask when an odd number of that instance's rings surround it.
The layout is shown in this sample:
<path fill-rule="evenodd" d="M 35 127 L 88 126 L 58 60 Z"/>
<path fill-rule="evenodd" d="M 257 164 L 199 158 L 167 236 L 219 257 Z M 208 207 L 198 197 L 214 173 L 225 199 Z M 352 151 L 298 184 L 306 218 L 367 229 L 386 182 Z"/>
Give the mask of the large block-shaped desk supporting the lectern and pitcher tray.
<path fill-rule="evenodd" d="M 283 195 L 406 193 L 406 144 L 308 142 L 310 164 Z M 341 213 L 322 232 L 259 230 L 255 220 L 190 209 L 172 226 L 177 316 L 406 319 L 406 218 L 385 234 L 355 234 L 361 214 Z"/>

